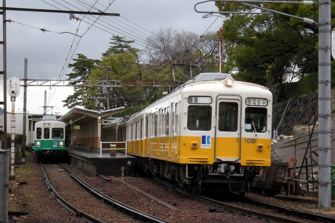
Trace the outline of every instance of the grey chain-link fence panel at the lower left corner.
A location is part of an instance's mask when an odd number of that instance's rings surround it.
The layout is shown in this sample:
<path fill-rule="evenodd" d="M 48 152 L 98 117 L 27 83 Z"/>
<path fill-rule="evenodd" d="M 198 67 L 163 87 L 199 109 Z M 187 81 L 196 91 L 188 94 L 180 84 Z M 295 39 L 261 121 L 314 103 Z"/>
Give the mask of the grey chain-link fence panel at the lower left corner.
<path fill-rule="evenodd" d="M 0 149 L 0 222 L 8 222 L 9 150 Z"/>

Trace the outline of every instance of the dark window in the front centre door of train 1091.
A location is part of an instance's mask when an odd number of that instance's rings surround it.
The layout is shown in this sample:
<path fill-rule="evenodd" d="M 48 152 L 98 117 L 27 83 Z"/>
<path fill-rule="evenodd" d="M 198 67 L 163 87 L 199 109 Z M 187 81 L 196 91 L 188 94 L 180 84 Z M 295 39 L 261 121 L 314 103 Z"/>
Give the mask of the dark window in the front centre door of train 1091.
<path fill-rule="evenodd" d="M 238 127 L 239 105 L 236 102 L 220 102 L 218 111 L 218 130 L 236 132 Z"/>

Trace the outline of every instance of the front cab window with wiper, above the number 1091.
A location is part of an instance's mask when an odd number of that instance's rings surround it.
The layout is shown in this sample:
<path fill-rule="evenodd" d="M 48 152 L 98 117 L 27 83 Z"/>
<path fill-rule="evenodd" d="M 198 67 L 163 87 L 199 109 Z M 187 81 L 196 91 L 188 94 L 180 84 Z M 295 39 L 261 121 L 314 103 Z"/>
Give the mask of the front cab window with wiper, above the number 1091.
<path fill-rule="evenodd" d="M 265 107 L 246 107 L 245 127 L 246 132 L 266 132 L 267 109 Z"/>

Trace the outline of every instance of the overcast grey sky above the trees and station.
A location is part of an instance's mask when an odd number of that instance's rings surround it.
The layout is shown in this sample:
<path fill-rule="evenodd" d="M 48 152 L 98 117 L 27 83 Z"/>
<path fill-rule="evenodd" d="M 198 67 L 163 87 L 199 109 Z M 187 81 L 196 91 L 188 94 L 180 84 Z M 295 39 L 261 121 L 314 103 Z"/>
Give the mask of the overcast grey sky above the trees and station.
<path fill-rule="evenodd" d="M 76 54 L 84 54 L 90 59 L 101 59 L 110 44 L 112 35 L 125 36 L 135 40 L 133 47 L 143 49 L 145 38 L 160 27 L 195 32 L 202 35 L 207 31 L 216 31 L 222 19 L 216 16 L 203 19 L 204 14 L 197 13 L 194 0 L 11 0 L 6 7 L 57 9 L 74 11 L 98 10 L 119 13 L 114 16 L 85 16 L 75 14 L 80 20 L 69 19 L 66 13 L 45 13 L 30 11 L 6 11 L 7 31 L 7 79 L 23 79 L 24 58 L 27 58 L 28 79 L 66 79 Z M 93 6 L 94 5 L 94 6 Z M 1 3 L 1 6 L 2 3 Z M 93 8 L 92 8 L 93 6 Z M 107 9 L 106 9 L 107 8 Z M 197 6 L 197 10 L 217 11 L 214 2 Z M 97 20 L 98 18 L 98 20 Z M 214 22 L 214 23 L 213 23 Z M 91 26 L 91 24 L 93 26 Z M 47 31 L 42 31 L 45 28 Z M 2 27 L 1 27 L 2 30 Z M 77 31 L 78 30 L 78 31 Z M 66 32 L 62 33 L 61 32 Z M 70 33 L 68 33 L 70 32 Z M 2 32 L 1 32 L 2 33 Z M 71 33 L 76 33 L 75 36 Z M 72 57 L 73 56 L 73 57 Z M 3 56 L 1 51 L 1 70 Z M 0 91 L 3 92 L 1 78 Z M 23 84 L 23 82 L 21 83 Z M 65 114 L 69 109 L 63 107 L 62 100 L 73 91 L 70 87 L 27 87 L 27 111 L 43 114 L 44 92 L 47 91 L 47 105 L 55 106 L 53 112 Z M 3 94 L 0 93 L 3 100 Z M 11 111 L 11 102 L 7 94 L 7 111 Z M 23 87 L 16 98 L 15 113 L 23 111 Z"/>

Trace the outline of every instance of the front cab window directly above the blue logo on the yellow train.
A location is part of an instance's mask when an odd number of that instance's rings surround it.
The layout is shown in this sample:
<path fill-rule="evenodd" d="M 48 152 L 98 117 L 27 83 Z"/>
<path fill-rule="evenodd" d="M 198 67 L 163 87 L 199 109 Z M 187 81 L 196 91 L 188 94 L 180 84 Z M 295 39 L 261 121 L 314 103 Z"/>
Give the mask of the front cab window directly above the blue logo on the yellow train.
<path fill-rule="evenodd" d="M 187 129 L 192 131 L 210 131 L 211 117 L 211 106 L 190 105 L 187 112 Z"/>

